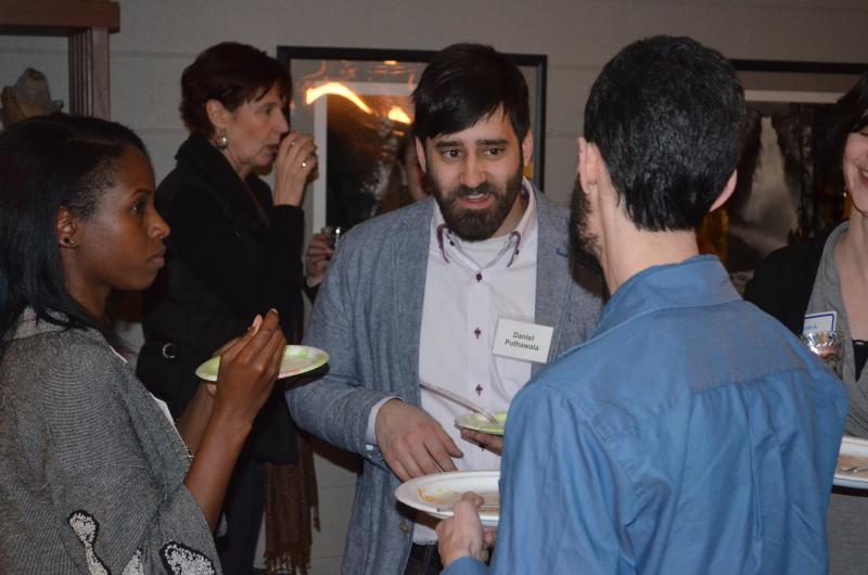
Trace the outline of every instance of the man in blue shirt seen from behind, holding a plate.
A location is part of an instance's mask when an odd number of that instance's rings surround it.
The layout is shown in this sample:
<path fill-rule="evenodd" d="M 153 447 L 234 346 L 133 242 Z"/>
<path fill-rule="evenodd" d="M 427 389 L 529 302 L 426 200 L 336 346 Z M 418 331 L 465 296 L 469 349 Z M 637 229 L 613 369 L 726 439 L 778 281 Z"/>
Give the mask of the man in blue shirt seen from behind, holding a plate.
<path fill-rule="evenodd" d="M 743 120 L 731 65 L 688 38 L 636 42 L 595 82 L 572 229 L 613 296 L 513 400 L 493 572 L 826 572 L 845 391 L 697 247 Z M 477 502 L 437 529 L 445 573 L 486 571 Z"/>

